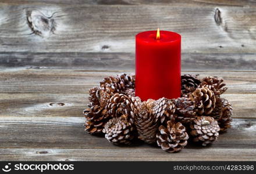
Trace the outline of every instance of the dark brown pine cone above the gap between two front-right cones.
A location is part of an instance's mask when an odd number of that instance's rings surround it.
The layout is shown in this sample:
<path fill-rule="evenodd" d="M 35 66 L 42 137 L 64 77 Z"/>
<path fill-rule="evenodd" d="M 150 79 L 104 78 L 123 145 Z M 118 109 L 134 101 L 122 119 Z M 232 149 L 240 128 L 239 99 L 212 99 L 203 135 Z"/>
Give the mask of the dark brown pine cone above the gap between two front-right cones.
<path fill-rule="evenodd" d="M 186 125 L 194 119 L 197 110 L 195 109 L 195 102 L 191 101 L 187 97 L 179 97 L 173 100 L 175 103 L 175 119 L 177 122 L 181 122 Z"/>

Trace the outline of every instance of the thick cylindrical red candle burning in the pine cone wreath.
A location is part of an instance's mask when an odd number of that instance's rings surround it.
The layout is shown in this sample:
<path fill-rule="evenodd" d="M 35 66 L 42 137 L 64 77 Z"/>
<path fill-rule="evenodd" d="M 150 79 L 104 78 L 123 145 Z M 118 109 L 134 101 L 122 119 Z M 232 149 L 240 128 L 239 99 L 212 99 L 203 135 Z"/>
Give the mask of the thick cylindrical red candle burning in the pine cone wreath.
<path fill-rule="evenodd" d="M 141 100 L 180 97 L 181 36 L 145 31 L 136 35 L 136 96 Z"/>

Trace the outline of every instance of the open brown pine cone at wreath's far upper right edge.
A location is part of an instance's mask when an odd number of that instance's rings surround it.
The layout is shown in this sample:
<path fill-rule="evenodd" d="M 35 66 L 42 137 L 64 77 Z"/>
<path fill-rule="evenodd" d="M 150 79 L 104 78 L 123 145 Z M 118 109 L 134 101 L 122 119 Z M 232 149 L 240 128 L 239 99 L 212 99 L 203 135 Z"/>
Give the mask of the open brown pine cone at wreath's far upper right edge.
<path fill-rule="evenodd" d="M 219 96 L 226 92 L 227 88 L 223 88 L 226 84 L 223 84 L 223 79 L 218 77 L 205 77 L 202 79 L 201 87 L 207 87 L 214 92 L 215 96 Z"/>

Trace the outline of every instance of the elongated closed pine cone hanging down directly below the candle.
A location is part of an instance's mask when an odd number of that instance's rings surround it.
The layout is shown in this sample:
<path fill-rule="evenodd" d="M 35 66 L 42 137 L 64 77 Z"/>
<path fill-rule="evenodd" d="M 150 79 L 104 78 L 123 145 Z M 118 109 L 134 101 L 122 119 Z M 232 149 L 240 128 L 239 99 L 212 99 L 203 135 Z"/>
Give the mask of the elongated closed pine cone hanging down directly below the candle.
<path fill-rule="evenodd" d="M 155 143 L 159 127 L 159 121 L 156 115 L 152 114 L 152 107 L 155 100 L 148 99 L 141 103 L 140 113 L 135 117 L 135 125 L 138 132 L 138 139 L 145 143 Z"/>

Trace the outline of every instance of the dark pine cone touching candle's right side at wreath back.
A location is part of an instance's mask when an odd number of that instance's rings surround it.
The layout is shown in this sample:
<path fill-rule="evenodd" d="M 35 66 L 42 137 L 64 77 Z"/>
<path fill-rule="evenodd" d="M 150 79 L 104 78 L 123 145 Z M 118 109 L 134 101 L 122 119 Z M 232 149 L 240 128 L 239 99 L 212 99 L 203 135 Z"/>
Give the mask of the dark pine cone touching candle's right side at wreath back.
<path fill-rule="evenodd" d="M 197 78 L 198 75 L 184 74 L 182 75 L 182 93 L 187 93 L 187 89 L 196 89 L 198 85 L 201 84 L 200 79 Z M 194 91 L 191 91 L 194 92 Z"/>

